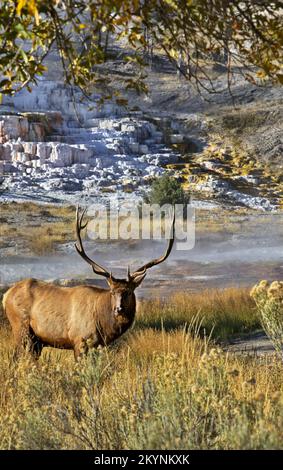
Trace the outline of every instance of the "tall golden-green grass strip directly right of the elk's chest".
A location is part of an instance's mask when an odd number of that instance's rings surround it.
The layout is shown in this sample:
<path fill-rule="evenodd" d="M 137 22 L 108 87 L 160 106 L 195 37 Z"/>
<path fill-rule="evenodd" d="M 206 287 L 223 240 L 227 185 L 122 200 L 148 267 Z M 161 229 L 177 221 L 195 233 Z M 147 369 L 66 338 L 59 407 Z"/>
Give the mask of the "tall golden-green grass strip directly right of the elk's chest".
<path fill-rule="evenodd" d="M 186 328 L 198 319 L 200 332 L 225 340 L 235 333 L 259 327 L 255 304 L 248 289 L 229 288 L 199 293 L 179 292 L 168 300 L 147 300 L 140 306 L 140 328 Z"/>

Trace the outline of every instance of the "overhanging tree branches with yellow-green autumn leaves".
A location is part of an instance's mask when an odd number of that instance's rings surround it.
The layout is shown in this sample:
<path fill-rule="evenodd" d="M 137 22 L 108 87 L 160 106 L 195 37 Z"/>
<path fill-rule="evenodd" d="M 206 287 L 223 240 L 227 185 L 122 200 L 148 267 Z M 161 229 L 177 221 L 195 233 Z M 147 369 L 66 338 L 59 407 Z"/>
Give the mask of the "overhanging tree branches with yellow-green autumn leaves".
<path fill-rule="evenodd" d="M 95 86 L 113 94 L 101 68 L 113 54 L 134 70 L 120 77 L 124 87 L 139 92 L 147 90 L 144 66 L 154 54 L 165 54 L 200 92 L 219 91 L 211 74 L 217 63 L 228 89 L 239 73 L 282 84 L 282 7 L 270 0 L 0 0 L 0 93 L 36 83 L 52 48 L 66 83 L 86 94 Z"/>

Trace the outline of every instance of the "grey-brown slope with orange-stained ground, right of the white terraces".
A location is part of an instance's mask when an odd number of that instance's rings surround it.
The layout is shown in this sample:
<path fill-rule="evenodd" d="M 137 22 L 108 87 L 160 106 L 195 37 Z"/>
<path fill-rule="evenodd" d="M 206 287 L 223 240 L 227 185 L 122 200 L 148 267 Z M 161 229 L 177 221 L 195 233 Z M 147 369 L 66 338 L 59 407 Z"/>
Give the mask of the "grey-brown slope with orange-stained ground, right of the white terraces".
<path fill-rule="evenodd" d="M 191 193 L 197 191 L 194 183 L 203 183 L 212 175 L 232 182 L 240 191 L 252 191 L 282 207 L 282 87 L 256 87 L 239 75 L 232 87 L 233 100 L 227 92 L 225 71 L 216 73 L 209 68 L 207 72 L 222 84 L 222 93 L 204 93 L 201 97 L 173 69 L 154 62 L 147 69 L 148 97 L 131 93 L 129 103 L 148 114 L 170 116 L 173 124 L 174 120 L 181 120 L 187 138 L 205 143 L 204 152 L 189 151 L 186 155 L 185 151 L 187 164 L 183 169 L 171 166 L 181 171 L 185 187 Z M 176 147 L 183 154 L 182 146 Z M 203 160 L 217 161 L 223 168 L 208 171 L 202 165 Z M 257 182 L 243 186 L 235 180 L 235 176 L 246 175 L 254 176 Z M 188 176 L 193 176 L 193 181 L 189 178 L 187 182 Z M 200 198 L 201 193 L 197 191 L 196 196 Z"/>

